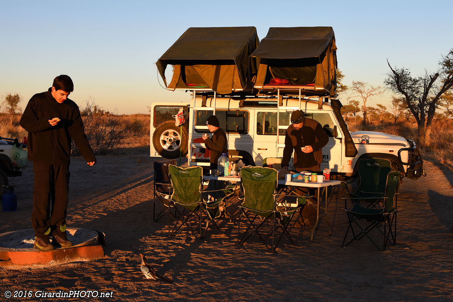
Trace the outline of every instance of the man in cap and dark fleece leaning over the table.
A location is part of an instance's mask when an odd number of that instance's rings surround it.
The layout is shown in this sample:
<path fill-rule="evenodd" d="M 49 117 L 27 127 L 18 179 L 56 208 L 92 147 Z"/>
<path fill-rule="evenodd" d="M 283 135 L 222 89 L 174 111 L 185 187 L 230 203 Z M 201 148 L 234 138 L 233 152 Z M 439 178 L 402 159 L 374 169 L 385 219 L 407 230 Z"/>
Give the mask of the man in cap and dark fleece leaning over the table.
<path fill-rule="evenodd" d="M 294 150 L 293 166 L 297 172 L 321 171 L 323 147 L 328 141 L 329 137 L 321 124 L 305 118 L 304 111 L 294 110 L 291 114 L 291 125 L 285 133 L 282 169 L 288 169 L 289 159 Z M 302 196 L 306 193 L 307 188 L 296 187 L 296 194 Z M 313 213 L 313 210 L 312 207 L 305 206 L 302 211 L 302 215 L 308 218 L 310 223 L 316 220 L 316 213 Z"/>

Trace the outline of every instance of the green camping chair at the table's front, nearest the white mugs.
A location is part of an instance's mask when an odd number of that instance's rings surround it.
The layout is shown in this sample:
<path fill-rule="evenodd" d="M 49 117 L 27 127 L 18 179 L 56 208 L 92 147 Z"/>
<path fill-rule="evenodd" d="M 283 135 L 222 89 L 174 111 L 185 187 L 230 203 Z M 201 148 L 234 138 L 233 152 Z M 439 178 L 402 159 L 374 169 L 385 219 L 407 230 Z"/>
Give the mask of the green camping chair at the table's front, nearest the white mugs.
<path fill-rule="evenodd" d="M 294 213 L 300 209 L 299 204 L 277 206 L 277 170 L 272 168 L 251 167 L 241 169 L 241 186 L 243 196 L 240 198 L 239 222 L 237 244 L 242 245 L 251 235 L 258 235 L 260 240 L 265 244 L 270 252 L 274 252 L 279 244 L 283 234 L 289 239 L 291 244 L 295 245 L 289 235 L 291 219 Z M 241 216 L 246 217 L 246 230 L 241 235 Z M 262 235 L 265 232 L 266 223 L 271 225 L 267 228 L 268 235 Z M 282 232 L 276 239 L 275 233 L 278 229 Z M 260 233 L 261 232 L 261 233 Z M 270 246 L 266 240 L 272 236 Z M 276 239 L 276 243 L 274 244 Z"/>

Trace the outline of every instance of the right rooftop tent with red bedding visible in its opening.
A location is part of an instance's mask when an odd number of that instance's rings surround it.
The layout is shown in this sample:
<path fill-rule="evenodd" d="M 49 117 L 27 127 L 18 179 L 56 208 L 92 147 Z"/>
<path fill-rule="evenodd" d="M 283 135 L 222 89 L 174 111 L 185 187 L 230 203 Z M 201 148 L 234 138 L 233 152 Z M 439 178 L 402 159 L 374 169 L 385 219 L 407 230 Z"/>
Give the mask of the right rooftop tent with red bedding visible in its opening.
<path fill-rule="evenodd" d="M 271 27 L 252 57 L 260 59 L 255 88 L 284 87 L 333 96 L 337 88 L 337 46 L 332 27 Z M 282 87 L 283 85 L 277 85 Z"/>

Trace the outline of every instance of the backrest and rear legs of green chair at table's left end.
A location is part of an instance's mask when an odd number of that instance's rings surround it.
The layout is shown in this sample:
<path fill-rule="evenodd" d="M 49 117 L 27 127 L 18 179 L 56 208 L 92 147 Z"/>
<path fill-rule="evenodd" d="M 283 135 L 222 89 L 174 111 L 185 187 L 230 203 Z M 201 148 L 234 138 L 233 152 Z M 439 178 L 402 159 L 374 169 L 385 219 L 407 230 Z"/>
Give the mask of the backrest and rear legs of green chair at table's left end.
<path fill-rule="evenodd" d="M 202 203 L 202 172 L 202 167 L 182 168 L 175 165 L 169 165 L 171 193 L 169 198 L 169 209 L 167 211 L 171 213 L 171 208 L 173 207 L 175 213 L 178 215 L 171 231 L 169 215 L 169 237 L 176 235 L 183 225 L 197 237 L 194 229 L 201 223 L 197 211 L 200 209 Z M 183 210 L 180 211 L 177 205 L 181 206 Z M 193 216 L 197 216 L 197 225 L 195 225 L 194 220 L 192 219 Z M 173 218 L 175 217 L 173 216 Z"/>

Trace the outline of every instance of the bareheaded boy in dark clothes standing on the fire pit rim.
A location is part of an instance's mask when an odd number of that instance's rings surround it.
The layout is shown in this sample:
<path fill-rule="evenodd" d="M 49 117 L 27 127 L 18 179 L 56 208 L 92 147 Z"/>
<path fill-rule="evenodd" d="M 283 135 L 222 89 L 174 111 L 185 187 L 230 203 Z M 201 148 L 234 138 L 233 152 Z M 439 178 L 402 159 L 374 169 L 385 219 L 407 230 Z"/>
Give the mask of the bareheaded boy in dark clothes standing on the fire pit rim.
<path fill-rule="evenodd" d="M 63 248 L 72 246 L 66 236 L 72 140 L 88 166 L 96 163 L 84 133 L 79 108 L 67 98 L 73 90 L 70 77 L 56 77 L 48 91 L 32 96 L 20 119 L 20 125 L 28 131 L 28 158 L 33 161 L 31 219 L 35 233 L 34 248 L 42 251 L 54 249 L 50 236 L 53 236 L 55 245 Z"/>

